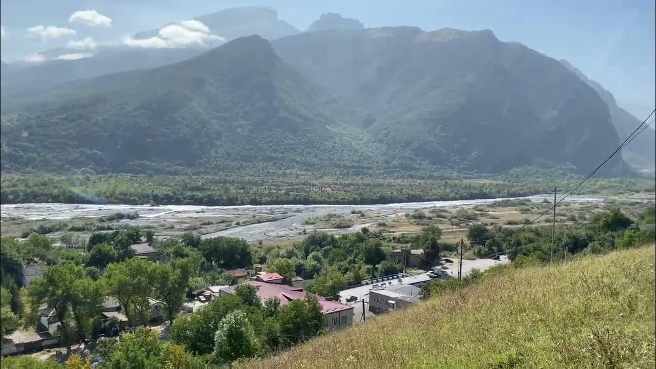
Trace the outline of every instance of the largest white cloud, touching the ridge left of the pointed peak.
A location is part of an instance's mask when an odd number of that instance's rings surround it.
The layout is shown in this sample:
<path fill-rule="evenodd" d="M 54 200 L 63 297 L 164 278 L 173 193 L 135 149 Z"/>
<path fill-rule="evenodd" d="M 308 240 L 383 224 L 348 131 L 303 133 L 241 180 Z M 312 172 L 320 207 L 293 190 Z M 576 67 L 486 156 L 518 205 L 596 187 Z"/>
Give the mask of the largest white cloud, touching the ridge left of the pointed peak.
<path fill-rule="evenodd" d="M 185 20 L 180 24 L 162 27 L 156 36 L 146 39 L 124 37 L 123 44 L 129 47 L 149 49 L 181 49 L 189 45 L 204 46 L 207 41 L 226 41 L 223 37 L 213 35 L 203 22 Z"/>

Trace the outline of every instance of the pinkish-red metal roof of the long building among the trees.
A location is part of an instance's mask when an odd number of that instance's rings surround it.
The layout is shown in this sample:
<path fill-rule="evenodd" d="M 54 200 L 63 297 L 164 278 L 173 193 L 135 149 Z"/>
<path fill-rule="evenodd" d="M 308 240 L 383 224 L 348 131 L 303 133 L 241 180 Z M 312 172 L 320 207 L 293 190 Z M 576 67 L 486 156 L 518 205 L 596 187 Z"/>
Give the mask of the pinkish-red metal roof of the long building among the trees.
<path fill-rule="evenodd" d="M 256 280 L 248 283 L 251 286 L 257 288 L 257 295 L 260 297 L 262 302 L 272 297 L 278 297 L 280 299 L 280 305 L 287 305 L 289 301 L 302 300 L 306 296 L 306 292 L 302 288 L 287 286 L 286 284 L 271 284 L 266 282 L 259 282 Z M 229 286 L 222 288 L 221 290 L 223 292 L 232 294 L 235 293 L 235 288 L 236 286 Z M 329 300 L 323 296 L 317 295 L 317 299 L 321 305 L 321 313 L 323 314 L 353 309 L 353 307 L 350 305 L 340 303 L 339 301 Z"/>

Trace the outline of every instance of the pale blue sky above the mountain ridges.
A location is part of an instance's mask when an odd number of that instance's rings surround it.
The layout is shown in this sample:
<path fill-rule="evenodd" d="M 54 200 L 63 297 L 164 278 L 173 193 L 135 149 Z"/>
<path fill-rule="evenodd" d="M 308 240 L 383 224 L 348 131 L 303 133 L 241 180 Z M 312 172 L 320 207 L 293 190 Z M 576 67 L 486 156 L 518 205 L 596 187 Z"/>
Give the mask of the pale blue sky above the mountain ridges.
<path fill-rule="evenodd" d="M 271 7 L 279 18 L 300 30 L 305 30 L 323 12 L 338 12 L 360 20 L 366 27 L 492 30 L 501 41 L 519 41 L 552 58 L 568 60 L 640 118 L 649 114 L 656 100 L 655 3 L 653 0 L 3 0 L 0 54 L 3 60 L 13 62 L 87 37 L 97 44 L 117 42 L 169 22 L 231 7 Z M 641 110 L 644 113 L 640 114 Z"/>

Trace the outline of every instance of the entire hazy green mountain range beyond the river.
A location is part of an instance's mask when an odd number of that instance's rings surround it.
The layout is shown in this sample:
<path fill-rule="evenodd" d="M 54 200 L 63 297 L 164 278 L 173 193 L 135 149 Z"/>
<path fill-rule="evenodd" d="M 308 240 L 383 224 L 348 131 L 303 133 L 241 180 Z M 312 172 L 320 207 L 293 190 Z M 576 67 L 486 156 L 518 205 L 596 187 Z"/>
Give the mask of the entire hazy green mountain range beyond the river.
<path fill-rule="evenodd" d="M 139 60 L 142 69 L 43 84 L 31 74 L 14 88 L 21 78 L 5 84 L 3 66 L 3 171 L 500 173 L 546 163 L 586 173 L 623 135 L 623 116 L 573 67 L 489 30 L 363 28 L 324 14 L 298 32 L 265 13 L 269 40 L 224 32 L 235 39 L 209 51 L 159 50 L 187 54 L 154 68 Z M 98 56 L 75 62 L 91 70 Z M 619 156 L 604 171 L 628 173 Z"/>

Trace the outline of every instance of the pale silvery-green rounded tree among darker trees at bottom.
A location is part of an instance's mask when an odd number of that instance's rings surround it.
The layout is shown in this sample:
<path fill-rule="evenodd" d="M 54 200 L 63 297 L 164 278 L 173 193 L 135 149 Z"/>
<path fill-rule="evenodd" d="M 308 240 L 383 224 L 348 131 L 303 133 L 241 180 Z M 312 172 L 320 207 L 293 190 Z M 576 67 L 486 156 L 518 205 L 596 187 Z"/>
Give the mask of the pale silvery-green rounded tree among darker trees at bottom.
<path fill-rule="evenodd" d="M 218 324 L 214 337 L 216 362 L 232 362 L 237 358 L 254 357 L 258 343 L 251 323 L 242 311 L 233 311 Z"/>

